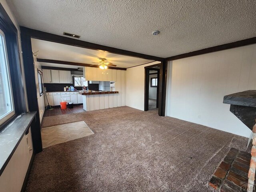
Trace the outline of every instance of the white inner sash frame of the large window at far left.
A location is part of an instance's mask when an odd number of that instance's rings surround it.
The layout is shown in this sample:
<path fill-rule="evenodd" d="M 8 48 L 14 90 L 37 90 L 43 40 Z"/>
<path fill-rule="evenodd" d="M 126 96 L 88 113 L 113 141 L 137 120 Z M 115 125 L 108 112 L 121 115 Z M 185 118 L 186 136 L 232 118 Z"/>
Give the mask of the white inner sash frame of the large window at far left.
<path fill-rule="evenodd" d="M 6 70 L 7 70 L 7 79 L 8 79 L 8 87 L 10 88 L 10 98 L 11 98 L 11 105 L 12 105 L 12 111 L 8 112 L 3 118 L 0 119 L 0 126 L 4 124 L 8 119 L 12 118 L 12 116 L 15 115 L 15 105 L 14 105 L 14 98 L 13 98 L 13 91 L 12 91 L 12 78 L 10 74 L 10 65 L 9 65 L 9 60 L 8 60 L 8 52 L 6 48 L 6 38 L 4 32 L 0 29 L 0 35 L 3 37 L 3 44 L 4 44 L 4 60 L 6 60 Z"/>

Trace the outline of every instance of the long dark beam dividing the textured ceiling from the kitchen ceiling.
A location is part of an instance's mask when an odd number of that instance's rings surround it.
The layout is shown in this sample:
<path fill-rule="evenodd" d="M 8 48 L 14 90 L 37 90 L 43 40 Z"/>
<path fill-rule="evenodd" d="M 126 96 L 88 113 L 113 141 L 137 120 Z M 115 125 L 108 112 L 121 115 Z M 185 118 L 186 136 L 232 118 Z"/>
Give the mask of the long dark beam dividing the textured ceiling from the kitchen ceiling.
<path fill-rule="evenodd" d="M 132 51 L 127 51 L 127 50 L 122 50 L 122 49 L 118 49 L 118 48 L 99 45 L 99 44 L 95 44 L 95 43 L 90 43 L 90 42 L 86 42 L 86 41 L 82 41 L 82 40 L 78 40 L 78 39 L 73 39 L 73 38 L 69 38 L 69 37 L 64 37 L 64 36 L 60 36 L 60 35 L 55 35 L 55 34 L 51 34 L 51 33 L 46 33 L 46 32 L 42 32 L 42 31 L 26 28 L 23 26 L 20 26 L 20 32 L 26 33 L 31 38 L 55 42 L 55 43 L 72 45 L 72 46 L 77 46 L 77 47 L 82 47 L 82 48 L 87 48 L 87 49 L 93 49 L 93 50 L 104 50 L 104 51 L 114 53 L 114 54 L 132 56 L 132 57 L 136 57 L 136 58 L 143 58 L 143 59 L 154 60 L 154 61 L 155 60 L 156 61 L 164 60 L 164 58 L 161 58 L 161 57 L 146 55 L 146 54 L 142 54 L 142 53 L 136 53 L 136 52 L 132 52 Z"/>

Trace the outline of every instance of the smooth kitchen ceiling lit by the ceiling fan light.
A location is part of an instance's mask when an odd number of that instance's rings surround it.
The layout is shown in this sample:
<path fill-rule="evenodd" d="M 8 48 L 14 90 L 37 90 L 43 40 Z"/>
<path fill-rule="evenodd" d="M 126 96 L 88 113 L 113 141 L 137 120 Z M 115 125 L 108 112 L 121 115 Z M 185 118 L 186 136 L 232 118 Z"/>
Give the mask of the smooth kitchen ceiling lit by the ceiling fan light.
<path fill-rule="evenodd" d="M 128 68 L 132 66 L 137 66 L 152 62 L 152 60 L 146 60 L 136 57 L 124 56 L 109 53 L 102 50 L 92 50 L 86 49 L 71 45 L 65 45 L 60 43 L 54 43 L 44 40 L 31 39 L 32 50 L 37 52 L 37 58 L 41 59 L 52 59 L 52 60 L 61 60 L 85 64 L 94 64 L 97 65 L 99 62 L 98 57 L 106 58 L 108 62 L 111 62 L 116 65 L 116 67 Z M 97 63 L 92 63 L 97 62 Z M 65 66 L 61 64 L 62 66 Z M 46 66 L 44 64 L 44 66 Z M 57 66 L 56 64 L 51 64 L 47 66 Z M 60 66 L 59 66 L 60 67 Z M 69 67 L 68 67 L 69 68 Z"/>

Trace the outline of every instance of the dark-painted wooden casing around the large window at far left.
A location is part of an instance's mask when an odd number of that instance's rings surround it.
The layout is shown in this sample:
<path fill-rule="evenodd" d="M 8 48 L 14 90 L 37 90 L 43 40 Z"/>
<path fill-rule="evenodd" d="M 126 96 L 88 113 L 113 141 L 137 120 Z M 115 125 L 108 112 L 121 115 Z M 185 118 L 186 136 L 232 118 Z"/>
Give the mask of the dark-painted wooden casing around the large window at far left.
<path fill-rule="evenodd" d="M 8 118 L 5 122 L 0 124 L 0 131 L 6 128 L 12 120 L 20 114 L 27 112 L 27 100 L 24 90 L 25 78 L 22 62 L 20 60 L 20 48 L 18 43 L 18 29 L 13 24 L 12 20 L 6 13 L 4 7 L 0 3 L 0 30 L 4 33 L 6 43 L 6 57 L 8 60 L 8 67 L 10 72 L 10 84 L 15 94 L 12 96 L 13 108 L 15 114 Z"/>

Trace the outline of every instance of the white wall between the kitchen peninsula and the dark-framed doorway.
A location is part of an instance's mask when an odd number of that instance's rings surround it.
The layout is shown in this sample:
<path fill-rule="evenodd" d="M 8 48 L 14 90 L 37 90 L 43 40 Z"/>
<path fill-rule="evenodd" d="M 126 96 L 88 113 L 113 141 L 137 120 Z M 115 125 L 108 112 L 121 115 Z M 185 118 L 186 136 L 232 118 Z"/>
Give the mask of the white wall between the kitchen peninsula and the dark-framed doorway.
<path fill-rule="evenodd" d="M 125 76 L 125 105 L 144 110 L 144 92 L 145 92 L 145 66 L 158 64 L 159 62 L 152 62 L 126 70 Z"/>

